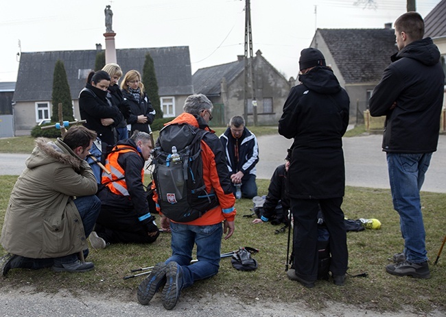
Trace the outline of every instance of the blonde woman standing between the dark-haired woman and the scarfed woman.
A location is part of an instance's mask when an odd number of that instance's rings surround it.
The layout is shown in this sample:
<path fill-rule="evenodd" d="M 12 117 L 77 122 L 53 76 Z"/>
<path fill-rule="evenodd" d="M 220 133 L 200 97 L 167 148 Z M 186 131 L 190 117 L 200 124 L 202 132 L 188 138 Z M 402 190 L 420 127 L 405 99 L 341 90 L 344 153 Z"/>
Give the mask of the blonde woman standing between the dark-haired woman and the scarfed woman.
<path fill-rule="evenodd" d="M 108 92 L 112 97 L 113 105 L 117 106 L 124 118 L 116 126 L 117 140 L 126 140 L 128 138 L 128 129 L 126 119 L 130 116 L 130 105 L 124 101 L 121 88 L 119 88 L 118 81 L 122 77 L 122 70 L 118 64 L 110 63 L 106 64 L 102 71 L 106 71 L 110 75 L 110 86 L 108 86 Z"/>

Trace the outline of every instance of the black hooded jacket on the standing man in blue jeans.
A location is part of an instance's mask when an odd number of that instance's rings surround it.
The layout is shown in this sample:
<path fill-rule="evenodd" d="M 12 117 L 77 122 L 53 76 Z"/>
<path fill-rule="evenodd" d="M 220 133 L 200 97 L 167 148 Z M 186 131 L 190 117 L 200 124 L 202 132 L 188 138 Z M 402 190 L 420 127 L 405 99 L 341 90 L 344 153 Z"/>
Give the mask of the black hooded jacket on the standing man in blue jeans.
<path fill-rule="evenodd" d="M 383 151 L 436 151 L 445 84 L 440 55 L 430 38 L 392 55 L 369 101 L 372 116 L 386 116 Z"/>

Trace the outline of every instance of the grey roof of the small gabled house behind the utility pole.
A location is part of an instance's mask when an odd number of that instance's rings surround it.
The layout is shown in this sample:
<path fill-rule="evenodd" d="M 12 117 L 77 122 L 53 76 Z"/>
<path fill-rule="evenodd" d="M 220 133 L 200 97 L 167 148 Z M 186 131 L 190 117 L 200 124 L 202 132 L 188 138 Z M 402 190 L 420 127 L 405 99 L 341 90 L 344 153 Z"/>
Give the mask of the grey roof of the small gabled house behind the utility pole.
<path fill-rule="evenodd" d="M 206 96 L 220 95 L 222 78 L 224 77 L 226 82 L 230 83 L 244 71 L 244 65 L 244 60 L 237 60 L 227 64 L 200 68 L 192 76 L 194 92 Z"/>

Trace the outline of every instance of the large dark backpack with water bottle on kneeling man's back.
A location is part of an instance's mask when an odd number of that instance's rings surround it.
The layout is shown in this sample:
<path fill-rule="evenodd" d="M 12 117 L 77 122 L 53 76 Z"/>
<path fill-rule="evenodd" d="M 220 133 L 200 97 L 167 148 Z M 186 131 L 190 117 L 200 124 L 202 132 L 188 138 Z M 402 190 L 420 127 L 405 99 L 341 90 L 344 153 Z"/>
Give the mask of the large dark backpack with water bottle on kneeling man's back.
<path fill-rule="evenodd" d="M 167 218 L 178 223 L 200 218 L 218 206 L 215 192 L 206 192 L 203 179 L 201 140 L 207 133 L 187 123 L 167 125 L 152 152 L 158 204 Z M 176 162 L 172 162 L 172 147 L 180 156 Z"/>

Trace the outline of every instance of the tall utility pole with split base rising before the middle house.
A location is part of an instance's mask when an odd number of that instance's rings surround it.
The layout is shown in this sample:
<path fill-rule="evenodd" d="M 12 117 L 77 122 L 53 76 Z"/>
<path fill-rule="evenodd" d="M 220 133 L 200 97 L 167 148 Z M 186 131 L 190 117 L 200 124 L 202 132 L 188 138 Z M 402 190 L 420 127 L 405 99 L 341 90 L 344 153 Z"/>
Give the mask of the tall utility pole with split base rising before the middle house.
<path fill-rule="evenodd" d="M 249 48 L 249 61 L 248 61 Z M 245 3 L 245 92 L 244 92 L 244 119 L 248 123 L 248 77 L 251 81 L 250 96 L 253 103 L 254 125 L 257 125 L 257 100 L 255 99 L 254 76 L 253 76 L 253 33 L 251 29 L 251 5 L 250 0 Z"/>

